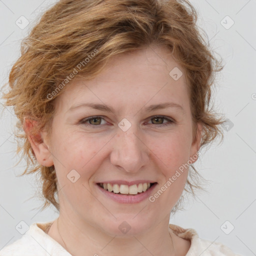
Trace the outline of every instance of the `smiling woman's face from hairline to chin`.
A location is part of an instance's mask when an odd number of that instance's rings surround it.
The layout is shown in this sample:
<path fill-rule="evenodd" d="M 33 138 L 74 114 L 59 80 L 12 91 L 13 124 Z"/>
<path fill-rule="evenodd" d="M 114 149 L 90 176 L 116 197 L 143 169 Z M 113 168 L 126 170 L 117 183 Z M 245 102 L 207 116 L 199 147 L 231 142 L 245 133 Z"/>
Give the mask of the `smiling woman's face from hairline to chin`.
<path fill-rule="evenodd" d="M 181 70 L 166 49 L 154 46 L 115 56 L 96 78 L 66 85 L 47 144 L 60 214 L 114 235 L 169 220 L 200 140 L 193 141 Z M 139 192 L 143 183 L 153 185 Z"/>

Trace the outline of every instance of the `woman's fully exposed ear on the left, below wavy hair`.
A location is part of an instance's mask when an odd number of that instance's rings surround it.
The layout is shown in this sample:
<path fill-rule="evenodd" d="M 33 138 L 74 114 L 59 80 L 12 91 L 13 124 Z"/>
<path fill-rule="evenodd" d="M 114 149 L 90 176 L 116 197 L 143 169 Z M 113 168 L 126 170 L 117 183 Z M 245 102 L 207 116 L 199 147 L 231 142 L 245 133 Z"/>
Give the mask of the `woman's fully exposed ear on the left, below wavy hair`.
<path fill-rule="evenodd" d="M 44 166 L 50 167 L 53 165 L 52 154 L 49 151 L 49 146 L 46 143 L 46 133 L 42 131 L 32 132 L 36 130 L 37 121 L 24 118 L 23 129 L 31 144 L 34 155 L 37 161 Z"/>

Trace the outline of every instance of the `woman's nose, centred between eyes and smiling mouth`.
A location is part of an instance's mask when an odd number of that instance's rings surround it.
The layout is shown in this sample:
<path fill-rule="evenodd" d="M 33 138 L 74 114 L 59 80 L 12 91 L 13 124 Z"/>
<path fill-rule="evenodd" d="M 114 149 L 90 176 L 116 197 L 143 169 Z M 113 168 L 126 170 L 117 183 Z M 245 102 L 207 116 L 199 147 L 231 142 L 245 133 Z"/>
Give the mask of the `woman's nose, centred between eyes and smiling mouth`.
<path fill-rule="evenodd" d="M 114 136 L 110 162 L 126 172 L 137 172 L 149 161 L 149 149 L 141 132 L 132 124 L 123 131 L 118 128 Z"/>

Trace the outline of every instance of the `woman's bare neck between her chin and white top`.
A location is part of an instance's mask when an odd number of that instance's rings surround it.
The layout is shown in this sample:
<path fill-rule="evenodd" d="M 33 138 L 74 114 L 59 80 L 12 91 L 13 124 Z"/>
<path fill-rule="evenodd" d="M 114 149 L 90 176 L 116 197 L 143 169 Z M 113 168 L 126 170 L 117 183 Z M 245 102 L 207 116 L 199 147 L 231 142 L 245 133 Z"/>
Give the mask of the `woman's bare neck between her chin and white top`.
<path fill-rule="evenodd" d="M 177 256 L 179 254 L 175 253 L 173 242 L 176 238 L 173 233 L 169 233 L 168 220 L 167 216 L 167 219 L 149 227 L 143 233 L 118 236 L 107 234 L 88 223 L 72 221 L 67 215 L 60 214 L 53 222 L 48 235 L 73 256 L 84 255 L 84 251 L 86 255 L 95 256 Z"/>

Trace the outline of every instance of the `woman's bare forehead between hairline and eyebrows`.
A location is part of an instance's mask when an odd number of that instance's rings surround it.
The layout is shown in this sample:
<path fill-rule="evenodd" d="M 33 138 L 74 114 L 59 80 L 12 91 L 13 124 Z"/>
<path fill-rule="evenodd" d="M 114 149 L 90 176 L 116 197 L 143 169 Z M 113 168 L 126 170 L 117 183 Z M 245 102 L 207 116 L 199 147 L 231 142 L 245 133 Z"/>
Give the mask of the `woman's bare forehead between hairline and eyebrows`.
<path fill-rule="evenodd" d="M 89 64 L 89 63 L 88 63 Z M 182 68 L 163 47 L 149 46 L 111 57 L 93 79 L 73 79 L 57 97 L 56 107 L 88 102 L 113 107 L 141 107 L 171 101 L 188 107 L 188 88 Z"/>

